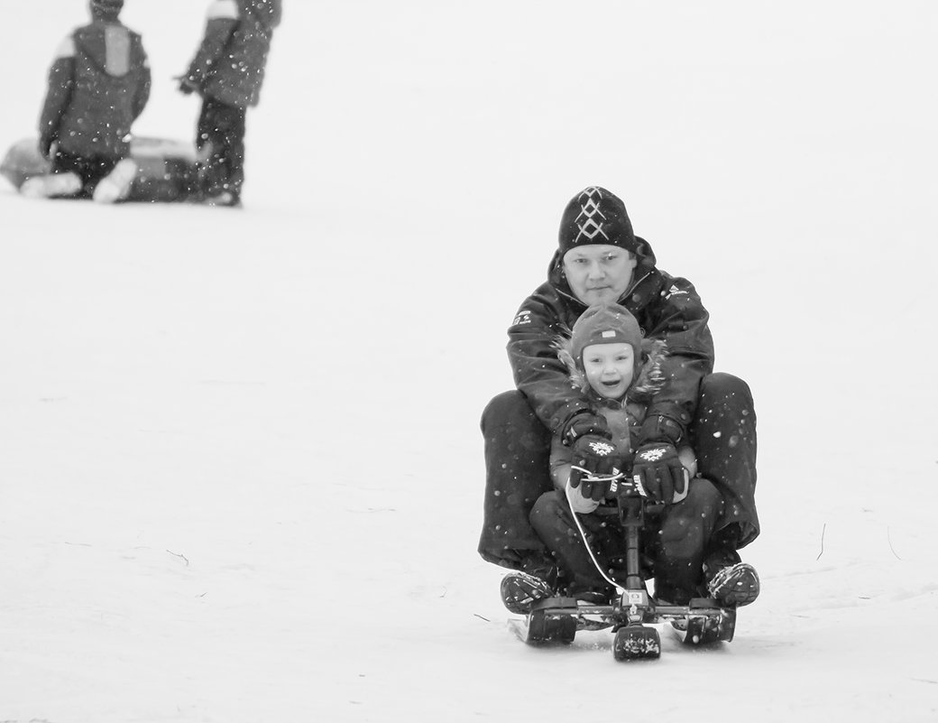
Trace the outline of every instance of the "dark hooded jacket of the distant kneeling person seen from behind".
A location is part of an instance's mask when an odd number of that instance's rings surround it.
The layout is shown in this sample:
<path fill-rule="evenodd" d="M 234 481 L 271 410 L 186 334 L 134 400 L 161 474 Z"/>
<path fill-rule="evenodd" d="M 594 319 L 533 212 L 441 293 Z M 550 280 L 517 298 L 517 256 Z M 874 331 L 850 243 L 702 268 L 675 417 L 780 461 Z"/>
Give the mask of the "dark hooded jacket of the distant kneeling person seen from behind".
<path fill-rule="evenodd" d="M 78 28 L 59 46 L 39 119 L 39 146 L 83 158 L 123 158 L 130 127 L 150 97 L 150 68 L 139 35 L 114 22 Z"/>

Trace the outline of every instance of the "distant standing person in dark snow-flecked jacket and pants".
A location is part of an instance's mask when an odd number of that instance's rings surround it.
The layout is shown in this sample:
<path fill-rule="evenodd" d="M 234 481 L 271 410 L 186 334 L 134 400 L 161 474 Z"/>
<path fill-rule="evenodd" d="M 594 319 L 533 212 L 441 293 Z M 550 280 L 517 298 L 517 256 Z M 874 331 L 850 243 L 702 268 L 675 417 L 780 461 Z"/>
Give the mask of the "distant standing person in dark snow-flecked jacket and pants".
<path fill-rule="evenodd" d="M 179 90 L 203 98 L 196 147 L 203 160 L 196 194 L 215 206 L 238 206 L 244 184 L 245 116 L 260 100 L 280 0 L 215 0 L 198 53 Z"/>

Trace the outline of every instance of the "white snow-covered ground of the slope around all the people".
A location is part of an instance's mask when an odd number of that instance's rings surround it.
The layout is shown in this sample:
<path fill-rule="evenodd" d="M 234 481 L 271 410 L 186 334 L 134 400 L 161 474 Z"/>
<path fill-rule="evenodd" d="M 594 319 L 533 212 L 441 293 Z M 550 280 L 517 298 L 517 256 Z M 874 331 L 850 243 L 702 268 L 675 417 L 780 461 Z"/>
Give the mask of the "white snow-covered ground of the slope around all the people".
<path fill-rule="evenodd" d="M 191 133 L 202 5 L 128 3 L 142 134 Z M 0 188 L 0 720 L 938 719 L 938 10 L 716 6 L 288 3 L 243 211 Z M 0 146 L 83 17 L 19 4 Z M 475 552 L 590 184 L 759 413 L 763 596 L 652 664 L 524 646 Z"/>

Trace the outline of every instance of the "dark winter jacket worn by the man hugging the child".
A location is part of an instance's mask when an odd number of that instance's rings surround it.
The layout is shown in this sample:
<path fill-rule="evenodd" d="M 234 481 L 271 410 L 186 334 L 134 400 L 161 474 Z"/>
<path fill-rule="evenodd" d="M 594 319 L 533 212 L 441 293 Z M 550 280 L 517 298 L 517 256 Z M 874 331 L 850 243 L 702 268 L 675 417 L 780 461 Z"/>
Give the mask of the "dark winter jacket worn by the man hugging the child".
<path fill-rule="evenodd" d="M 668 346 L 668 356 L 661 363 L 663 381 L 648 403 L 648 416 L 666 417 L 686 433 L 697 409 L 701 379 L 713 371 L 710 315 L 693 285 L 658 269 L 651 247 L 640 240 L 646 250 L 618 303 L 635 315 L 647 338 Z M 569 335 L 585 310 L 586 305 L 567 284 L 557 252 L 547 283 L 524 300 L 508 329 L 507 352 L 515 385 L 553 433 L 563 430 L 574 414 L 590 409 L 582 392 L 570 386 L 567 368 L 553 346 L 558 334 Z"/>

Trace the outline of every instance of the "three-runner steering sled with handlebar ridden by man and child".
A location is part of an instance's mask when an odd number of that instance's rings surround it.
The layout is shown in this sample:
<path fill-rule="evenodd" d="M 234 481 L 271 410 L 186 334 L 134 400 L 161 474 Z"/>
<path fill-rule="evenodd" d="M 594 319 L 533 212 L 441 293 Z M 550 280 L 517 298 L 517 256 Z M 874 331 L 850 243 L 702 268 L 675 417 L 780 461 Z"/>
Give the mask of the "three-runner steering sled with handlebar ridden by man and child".
<path fill-rule="evenodd" d="M 620 592 L 610 605 L 584 605 L 568 597 L 549 597 L 537 601 L 525 619 L 522 639 L 530 645 L 568 644 L 580 630 L 612 628 L 613 656 L 616 660 L 650 660 L 661 654 L 659 623 L 670 624 L 677 637 L 687 645 L 706 646 L 730 642 L 736 626 L 735 608 L 721 607 L 712 598 L 694 598 L 688 605 L 659 603 L 649 594 L 641 567 L 639 537 L 644 515 L 656 505 L 639 493 L 636 485 L 623 475 L 593 476 L 589 482 L 611 483 L 616 500 L 614 507 L 599 508 L 605 514 L 619 515 L 626 533 L 626 580 L 613 581 L 602 571 L 586 541 L 579 521 L 583 543 L 603 577 Z M 660 508 L 660 505 L 658 505 Z M 576 515 L 574 515 L 576 519 Z"/>

